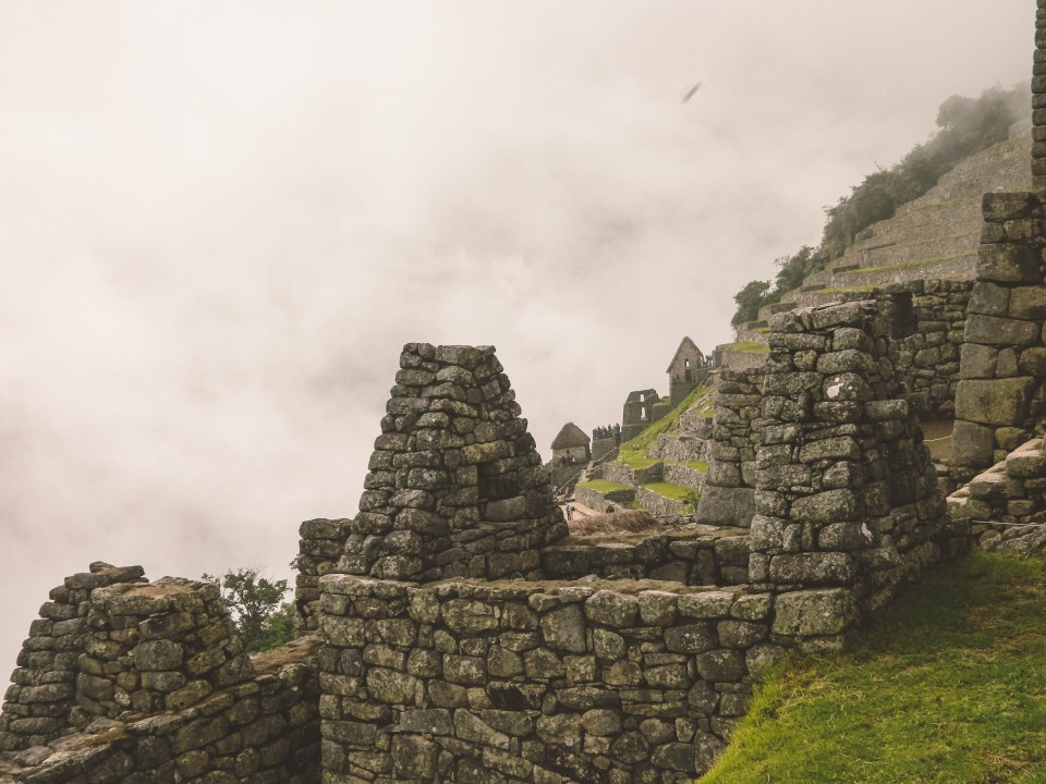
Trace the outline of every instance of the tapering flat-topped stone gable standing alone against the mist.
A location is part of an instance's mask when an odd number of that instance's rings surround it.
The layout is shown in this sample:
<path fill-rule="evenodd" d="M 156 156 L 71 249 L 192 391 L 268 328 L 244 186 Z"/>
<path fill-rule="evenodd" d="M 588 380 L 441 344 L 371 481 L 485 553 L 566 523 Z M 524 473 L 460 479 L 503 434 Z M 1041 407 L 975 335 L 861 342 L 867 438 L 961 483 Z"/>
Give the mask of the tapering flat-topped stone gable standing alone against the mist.
<path fill-rule="evenodd" d="M 338 571 L 525 577 L 565 536 L 548 471 L 492 346 L 409 343 Z"/>

